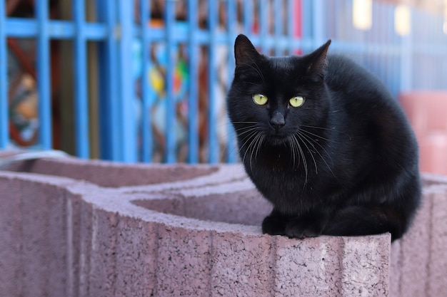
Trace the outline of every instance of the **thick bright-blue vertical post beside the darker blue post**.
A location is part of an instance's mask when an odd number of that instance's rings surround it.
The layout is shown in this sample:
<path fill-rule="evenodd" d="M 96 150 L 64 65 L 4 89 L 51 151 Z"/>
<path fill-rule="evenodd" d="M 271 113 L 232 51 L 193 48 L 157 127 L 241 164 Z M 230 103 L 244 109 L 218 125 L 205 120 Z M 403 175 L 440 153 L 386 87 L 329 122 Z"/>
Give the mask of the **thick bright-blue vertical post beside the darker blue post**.
<path fill-rule="evenodd" d="M 121 130 L 121 160 L 136 162 L 136 116 L 134 77 L 132 75 L 132 44 L 134 23 L 134 1 L 118 1 L 121 24 L 119 38 L 119 123 Z"/>

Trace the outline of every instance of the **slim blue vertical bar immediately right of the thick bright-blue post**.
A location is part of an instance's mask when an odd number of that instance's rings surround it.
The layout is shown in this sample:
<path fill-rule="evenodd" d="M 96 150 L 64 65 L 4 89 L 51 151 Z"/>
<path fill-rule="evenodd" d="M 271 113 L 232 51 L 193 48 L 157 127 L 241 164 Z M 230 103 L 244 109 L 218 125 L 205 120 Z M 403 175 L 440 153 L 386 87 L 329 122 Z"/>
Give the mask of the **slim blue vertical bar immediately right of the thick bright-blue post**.
<path fill-rule="evenodd" d="M 141 161 L 152 161 L 153 135 L 151 127 L 151 88 L 149 88 L 148 71 L 151 66 L 151 39 L 149 36 L 149 16 L 151 15 L 151 6 L 148 0 L 140 1 L 140 21 L 141 21 L 141 59 L 143 72 L 141 74 Z"/>

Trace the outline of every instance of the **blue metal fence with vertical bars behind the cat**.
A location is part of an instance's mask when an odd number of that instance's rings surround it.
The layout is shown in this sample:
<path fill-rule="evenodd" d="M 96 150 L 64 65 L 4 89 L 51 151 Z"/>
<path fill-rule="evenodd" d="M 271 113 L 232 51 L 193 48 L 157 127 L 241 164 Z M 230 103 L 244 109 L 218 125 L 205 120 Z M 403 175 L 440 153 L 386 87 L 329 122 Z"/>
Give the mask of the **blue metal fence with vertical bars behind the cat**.
<path fill-rule="evenodd" d="M 99 122 L 101 158 L 124 162 L 236 162 L 225 118 L 233 73 L 234 38 L 246 33 L 263 53 L 306 53 L 328 38 L 376 73 L 397 96 L 401 90 L 447 88 L 447 35 L 442 15 L 411 9 L 411 31 L 394 30 L 395 6 L 373 2 L 372 26 L 352 24 L 353 0 L 157 1 L 96 0 L 96 21 L 86 1 L 73 0 L 72 19 L 49 19 L 49 1 L 35 1 L 33 18 L 6 16 L 0 0 L 0 149 L 9 147 L 7 38 L 36 40 L 39 140 L 49 149 L 51 40 L 74 48 L 76 155 L 90 157 L 89 126 Z M 180 7 L 180 8 L 179 8 Z M 179 9 L 184 16 L 179 17 Z M 151 11 L 152 10 L 152 11 Z M 87 42 L 98 49 L 99 94 L 89 98 Z M 139 83 L 136 83 L 139 82 Z M 89 118 L 89 100 L 99 115 Z M 183 157 L 181 157 L 183 156 Z"/>

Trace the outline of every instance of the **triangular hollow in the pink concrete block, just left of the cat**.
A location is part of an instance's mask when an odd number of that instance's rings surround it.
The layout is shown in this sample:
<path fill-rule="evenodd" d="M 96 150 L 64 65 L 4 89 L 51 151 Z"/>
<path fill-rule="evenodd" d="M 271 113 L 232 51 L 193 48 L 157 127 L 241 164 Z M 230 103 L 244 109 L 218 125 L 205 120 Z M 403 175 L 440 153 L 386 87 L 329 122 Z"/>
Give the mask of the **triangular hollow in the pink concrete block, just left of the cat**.
<path fill-rule="evenodd" d="M 271 204 L 256 190 L 210 194 L 200 197 L 137 199 L 133 204 L 165 214 L 211 222 L 261 226 L 272 209 Z"/>

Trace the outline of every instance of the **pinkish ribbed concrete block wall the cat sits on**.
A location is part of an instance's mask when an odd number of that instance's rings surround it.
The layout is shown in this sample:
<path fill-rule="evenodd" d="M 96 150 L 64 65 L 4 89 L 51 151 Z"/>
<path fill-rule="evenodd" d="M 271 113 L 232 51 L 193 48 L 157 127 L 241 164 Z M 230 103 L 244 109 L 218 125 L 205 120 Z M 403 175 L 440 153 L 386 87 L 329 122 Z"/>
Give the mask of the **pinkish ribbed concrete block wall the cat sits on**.
<path fill-rule="evenodd" d="M 0 172 L 4 296 L 443 296 L 446 179 L 411 231 L 296 240 L 238 165 L 22 162 Z M 83 173 L 84 172 L 84 173 Z M 3 296 L 3 295 L 2 295 Z"/>

